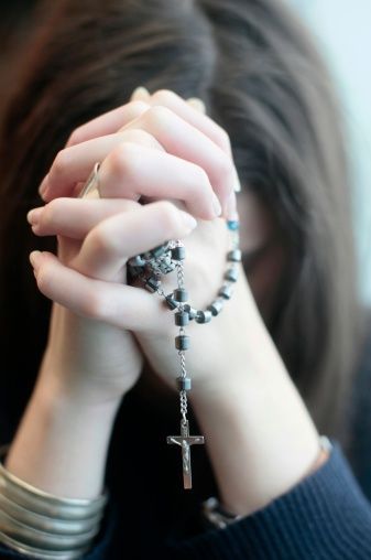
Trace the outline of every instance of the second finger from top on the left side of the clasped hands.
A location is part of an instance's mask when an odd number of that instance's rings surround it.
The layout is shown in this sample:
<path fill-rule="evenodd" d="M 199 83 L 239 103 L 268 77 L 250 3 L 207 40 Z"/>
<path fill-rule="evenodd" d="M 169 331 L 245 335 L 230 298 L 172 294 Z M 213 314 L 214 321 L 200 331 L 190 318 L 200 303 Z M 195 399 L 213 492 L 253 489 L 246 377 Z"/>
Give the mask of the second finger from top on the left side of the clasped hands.
<path fill-rule="evenodd" d="M 70 196 L 75 185 L 87 180 L 95 163 L 102 161 L 123 141 L 140 143 L 154 150 L 164 150 L 145 130 L 132 129 L 65 148 L 54 159 L 50 172 L 40 186 L 43 200 Z"/>

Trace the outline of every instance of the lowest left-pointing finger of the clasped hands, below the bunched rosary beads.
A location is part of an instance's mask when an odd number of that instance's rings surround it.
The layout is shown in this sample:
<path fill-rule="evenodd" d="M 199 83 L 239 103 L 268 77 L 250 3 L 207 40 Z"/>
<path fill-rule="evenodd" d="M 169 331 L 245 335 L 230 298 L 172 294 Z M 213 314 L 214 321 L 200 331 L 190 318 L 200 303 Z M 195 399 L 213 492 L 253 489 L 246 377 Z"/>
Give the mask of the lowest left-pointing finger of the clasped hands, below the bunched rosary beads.
<path fill-rule="evenodd" d="M 86 278 L 46 251 L 33 251 L 30 261 L 39 290 L 77 315 L 129 331 L 159 327 L 161 302 L 145 290 Z"/>

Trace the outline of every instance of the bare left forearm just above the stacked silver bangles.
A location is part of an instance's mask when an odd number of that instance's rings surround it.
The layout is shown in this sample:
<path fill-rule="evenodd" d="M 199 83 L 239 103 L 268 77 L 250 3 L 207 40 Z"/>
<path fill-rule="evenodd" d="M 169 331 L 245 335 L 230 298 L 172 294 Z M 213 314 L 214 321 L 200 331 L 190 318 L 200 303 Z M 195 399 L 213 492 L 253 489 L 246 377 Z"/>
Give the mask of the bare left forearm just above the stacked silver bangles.
<path fill-rule="evenodd" d="M 47 368 L 44 362 L 43 368 Z M 108 443 L 119 400 L 91 403 L 41 371 L 7 469 L 62 497 L 92 498 L 102 491 Z M 57 376 L 55 376 L 57 378 Z"/>

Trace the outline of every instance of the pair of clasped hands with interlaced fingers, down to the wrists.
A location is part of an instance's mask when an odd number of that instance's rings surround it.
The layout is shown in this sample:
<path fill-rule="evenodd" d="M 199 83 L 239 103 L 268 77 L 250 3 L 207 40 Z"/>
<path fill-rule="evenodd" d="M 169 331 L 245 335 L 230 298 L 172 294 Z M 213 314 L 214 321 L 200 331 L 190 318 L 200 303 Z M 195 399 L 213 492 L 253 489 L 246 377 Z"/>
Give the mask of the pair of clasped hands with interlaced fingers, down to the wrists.
<path fill-rule="evenodd" d="M 79 198 L 97 161 L 101 198 Z M 172 91 L 140 93 L 76 129 L 42 182 L 45 206 L 28 217 L 35 235 L 58 239 L 57 256 L 31 256 L 39 289 L 54 301 L 43 375 L 86 398 L 118 398 L 138 380 L 145 355 L 174 386 L 173 314 L 156 294 L 128 286 L 126 265 L 183 239 L 192 304 L 207 306 L 226 270 L 223 218 L 236 217 L 237 181 L 228 134 Z M 226 375 L 258 316 L 240 277 L 217 320 L 189 325 L 188 367 L 200 386 Z M 165 290 L 175 287 L 168 274 Z"/>

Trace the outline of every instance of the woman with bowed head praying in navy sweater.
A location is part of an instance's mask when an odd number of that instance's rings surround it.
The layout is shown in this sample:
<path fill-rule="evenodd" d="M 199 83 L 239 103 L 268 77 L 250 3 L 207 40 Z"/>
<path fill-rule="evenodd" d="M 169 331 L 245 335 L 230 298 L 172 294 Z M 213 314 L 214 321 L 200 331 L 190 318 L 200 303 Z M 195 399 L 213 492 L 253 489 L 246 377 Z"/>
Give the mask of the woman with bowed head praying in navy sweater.
<path fill-rule="evenodd" d="M 367 329 L 338 117 L 303 29 L 268 0 L 69 0 L 23 73 L 1 158 L 2 557 L 368 558 Z M 184 239 L 192 302 L 212 301 L 231 154 L 244 272 L 186 327 L 206 442 L 187 493 L 166 446 L 175 325 L 127 262 Z M 99 198 L 79 196 L 96 162 Z"/>

